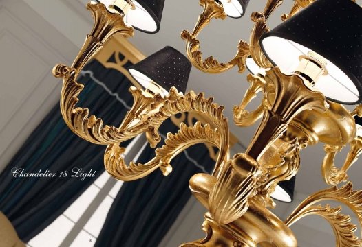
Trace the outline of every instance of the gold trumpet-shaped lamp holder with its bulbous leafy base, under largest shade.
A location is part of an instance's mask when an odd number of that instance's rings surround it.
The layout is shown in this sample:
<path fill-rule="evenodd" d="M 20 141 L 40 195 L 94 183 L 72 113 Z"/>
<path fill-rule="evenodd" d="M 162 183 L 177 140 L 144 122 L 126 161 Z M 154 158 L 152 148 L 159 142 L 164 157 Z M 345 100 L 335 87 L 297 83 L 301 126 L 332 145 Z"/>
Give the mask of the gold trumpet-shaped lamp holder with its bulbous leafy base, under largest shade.
<path fill-rule="evenodd" d="M 237 154 L 226 163 L 211 191 L 209 211 L 213 218 L 222 224 L 228 224 L 244 215 L 248 209 L 248 199 L 255 196 L 259 187 L 267 182 L 269 169 L 277 169 L 275 165 L 284 162 L 281 160 L 279 163 L 270 164 L 257 161 L 286 132 L 292 119 L 305 110 L 326 112 L 328 108 L 325 97 L 308 89 L 298 75 L 284 75 L 278 67 L 273 67 L 266 72 L 264 80 L 265 97 L 270 108 L 264 112 L 262 124 L 257 129 L 246 154 Z M 286 143 L 293 141 L 297 142 L 297 139 Z M 293 168 L 292 174 L 284 171 L 274 176 L 288 179 L 297 172 L 299 160 L 296 161 L 295 156 L 290 158 L 291 164 L 295 162 L 290 166 Z"/>

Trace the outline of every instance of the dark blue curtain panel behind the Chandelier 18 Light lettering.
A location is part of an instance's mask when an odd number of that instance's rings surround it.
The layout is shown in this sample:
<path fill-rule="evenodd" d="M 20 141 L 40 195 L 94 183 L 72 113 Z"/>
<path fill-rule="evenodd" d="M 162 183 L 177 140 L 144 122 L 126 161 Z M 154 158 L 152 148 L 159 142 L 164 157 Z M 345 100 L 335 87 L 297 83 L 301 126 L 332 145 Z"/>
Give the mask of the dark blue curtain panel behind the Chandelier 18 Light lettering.
<path fill-rule="evenodd" d="M 83 71 L 85 73 L 78 81 L 85 84 L 85 89 L 78 104 L 91 108 L 92 113 L 105 119 L 107 124 L 120 124 L 128 109 L 116 97 L 110 97 L 105 92 L 100 80 L 131 106 L 133 98 L 128 92 L 131 86 L 129 80 L 96 61 L 88 64 Z M 82 97 L 84 95 L 87 97 Z M 54 106 L 0 175 L 0 211 L 9 218 L 24 242 L 52 223 L 104 172 L 105 148 L 73 134 L 65 125 L 58 104 Z M 83 181 L 71 178 L 69 174 L 66 178 L 14 178 L 14 167 L 28 173 L 48 169 L 57 174 L 78 167 L 85 172 L 96 171 L 96 176 Z"/>

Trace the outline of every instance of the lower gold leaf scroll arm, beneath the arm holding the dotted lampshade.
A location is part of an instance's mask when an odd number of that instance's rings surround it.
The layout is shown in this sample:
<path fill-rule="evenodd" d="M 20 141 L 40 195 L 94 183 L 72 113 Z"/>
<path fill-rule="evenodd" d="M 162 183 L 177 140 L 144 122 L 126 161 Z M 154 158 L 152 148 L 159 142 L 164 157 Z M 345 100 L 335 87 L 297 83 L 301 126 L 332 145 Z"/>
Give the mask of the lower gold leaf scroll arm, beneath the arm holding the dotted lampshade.
<path fill-rule="evenodd" d="M 220 133 L 217 129 L 212 129 L 209 124 L 202 126 L 198 121 L 194 126 L 188 127 L 182 123 L 177 134 L 167 134 L 165 145 L 156 149 L 156 157 L 145 165 L 133 162 L 126 165 L 122 156 L 125 148 L 121 148 L 118 144 L 108 145 L 105 151 L 105 169 L 111 176 L 123 181 L 143 178 L 158 167 L 164 176 L 167 176 L 172 171 L 170 164 L 172 159 L 191 145 L 198 143 L 211 143 L 217 148 L 223 145 Z"/>

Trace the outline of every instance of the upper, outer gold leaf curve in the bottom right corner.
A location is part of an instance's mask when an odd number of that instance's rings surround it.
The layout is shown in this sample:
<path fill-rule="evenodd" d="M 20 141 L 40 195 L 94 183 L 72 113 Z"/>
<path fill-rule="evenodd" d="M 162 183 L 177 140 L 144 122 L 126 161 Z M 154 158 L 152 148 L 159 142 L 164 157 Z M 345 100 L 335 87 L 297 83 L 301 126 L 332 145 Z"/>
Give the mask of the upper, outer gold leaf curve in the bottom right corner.
<path fill-rule="evenodd" d="M 324 189 L 306 198 L 306 200 L 301 202 L 297 209 L 295 209 L 295 211 L 293 211 L 292 214 L 287 218 L 285 222 L 286 225 L 290 226 L 291 224 L 305 217 L 305 212 L 308 208 L 310 208 L 313 204 L 316 204 L 317 202 L 321 202 L 323 200 L 335 200 L 337 202 L 345 204 L 353 211 L 353 213 L 359 220 L 359 225 L 362 226 L 362 191 L 354 191 L 352 183 L 350 182 L 346 183 L 341 188 L 338 188 L 337 186 L 330 187 L 329 189 Z M 337 233 L 337 235 L 338 236 L 336 237 L 339 237 L 340 239 L 343 238 L 342 232 Z M 362 244 L 362 242 L 359 241 L 359 244 Z"/>

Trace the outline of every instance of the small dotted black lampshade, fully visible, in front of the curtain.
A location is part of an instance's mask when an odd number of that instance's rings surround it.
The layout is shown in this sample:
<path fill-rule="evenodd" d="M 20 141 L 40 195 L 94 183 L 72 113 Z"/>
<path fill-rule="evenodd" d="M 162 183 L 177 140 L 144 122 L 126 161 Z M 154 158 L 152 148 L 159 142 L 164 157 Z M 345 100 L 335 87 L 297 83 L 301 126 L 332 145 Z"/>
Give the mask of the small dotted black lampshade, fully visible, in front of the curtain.
<path fill-rule="evenodd" d="M 175 86 L 185 92 L 191 71 L 191 62 L 173 47 L 164 47 L 128 68 L 129 73 L 146 89 L 156 82 L 164 91 Z M 165 92 L 166 93 L 166 92 Z"/>

